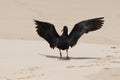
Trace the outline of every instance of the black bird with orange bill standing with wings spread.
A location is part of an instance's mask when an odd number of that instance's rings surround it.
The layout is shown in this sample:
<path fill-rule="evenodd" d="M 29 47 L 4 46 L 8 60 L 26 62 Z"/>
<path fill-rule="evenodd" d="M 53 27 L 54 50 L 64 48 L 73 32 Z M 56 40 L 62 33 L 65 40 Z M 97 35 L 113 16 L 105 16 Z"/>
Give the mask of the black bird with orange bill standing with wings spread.
<path fill-rule="evenodd" d="M 38 35 L 45 39 L 51 48 L 54 49 L 56 47 L 59 49 L 60 58 L 62 58 L 61 50 L 66 50 L 66 59 L 70 59 L 68 56 L 69 47 L 74 47 L 83 34 L 102 28 L 104 24 L 104 17 L 80 21 L 74 25 L 69 34 L 68 27 L 63 26 L 63 33 L 61 35 L 57 33 L 54 24 L 38 20 L 34 21 Z"/>

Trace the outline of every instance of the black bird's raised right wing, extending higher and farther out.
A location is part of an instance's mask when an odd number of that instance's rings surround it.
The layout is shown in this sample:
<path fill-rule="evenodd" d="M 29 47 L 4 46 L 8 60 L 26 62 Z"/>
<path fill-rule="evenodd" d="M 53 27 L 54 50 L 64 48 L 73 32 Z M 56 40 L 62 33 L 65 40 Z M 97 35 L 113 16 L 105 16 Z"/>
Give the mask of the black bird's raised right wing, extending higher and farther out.
<path fill-rule="evenodd" d="M 103 18 L 94 18 L 77 23 L 69 34 L 70 46 L 73 47 L 84 33 L 100 29 L 104 22 Z"/>

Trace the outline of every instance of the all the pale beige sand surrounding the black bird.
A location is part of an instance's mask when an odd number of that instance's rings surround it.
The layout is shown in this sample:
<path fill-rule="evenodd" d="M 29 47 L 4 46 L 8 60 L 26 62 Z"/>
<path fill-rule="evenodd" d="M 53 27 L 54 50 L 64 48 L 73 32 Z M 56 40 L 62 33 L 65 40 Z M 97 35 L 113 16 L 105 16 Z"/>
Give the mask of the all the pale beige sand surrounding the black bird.
<path fill-rule="evenodd" d="M 119 0 L 0 0 L 0 80 L 120 80 Z M 86 19 L 105 17 L 59 58 L 40 38 L 33 19 L 53 23 L 59 34 Z"/>

